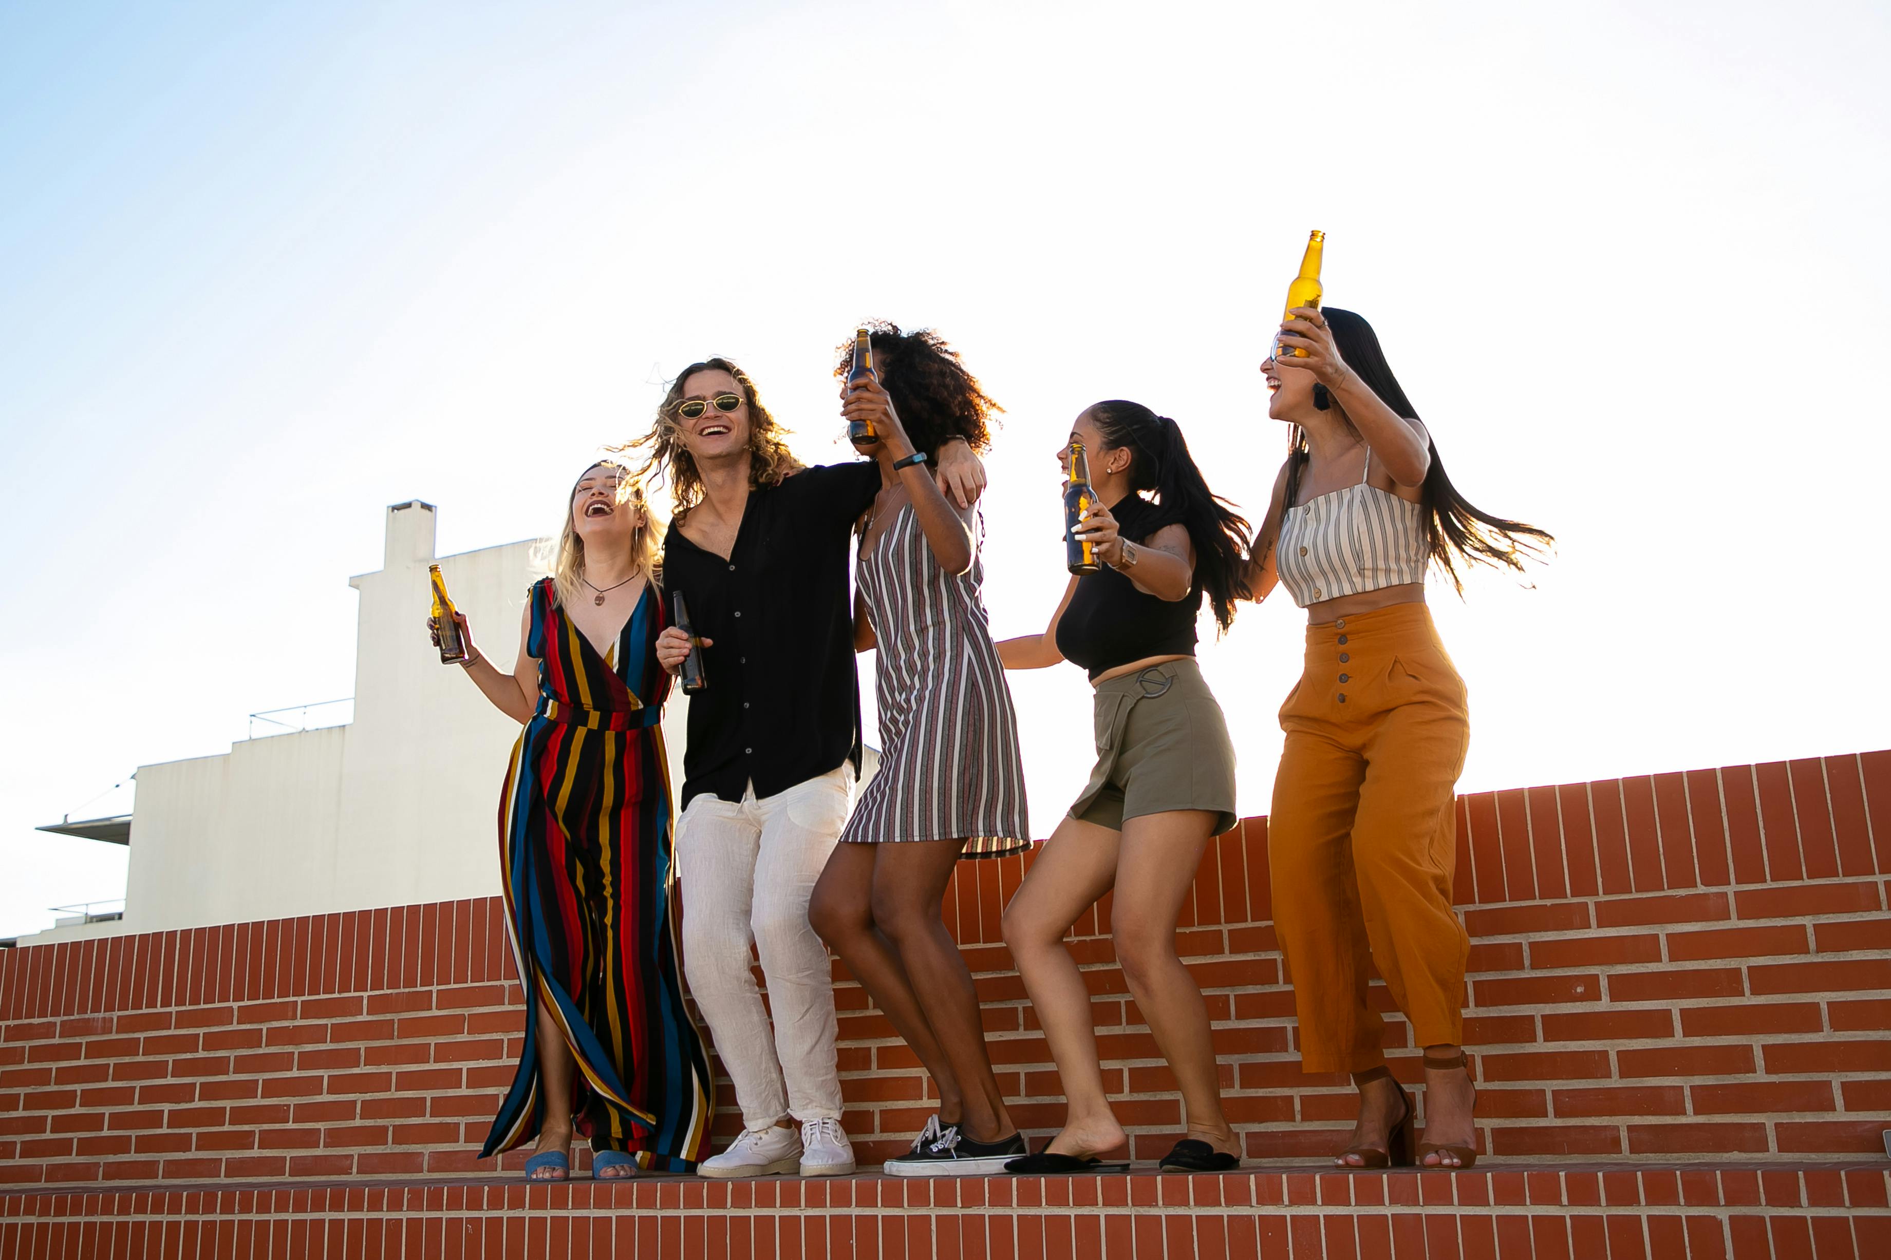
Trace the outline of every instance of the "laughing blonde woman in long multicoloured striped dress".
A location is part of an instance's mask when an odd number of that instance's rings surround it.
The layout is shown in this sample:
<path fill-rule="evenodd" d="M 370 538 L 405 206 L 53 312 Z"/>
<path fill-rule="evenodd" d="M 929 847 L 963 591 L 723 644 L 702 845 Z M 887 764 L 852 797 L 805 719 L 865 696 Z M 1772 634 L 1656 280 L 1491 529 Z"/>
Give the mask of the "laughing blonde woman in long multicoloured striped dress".
<path fill-rule="evenodd" d="M 514 673 L 477 648 L 465 665 L 526 725 L 499 797 L 526 1047 L 480 1158 L 537 1139 L 535 1181 L 569 1175 L 573 1132 L 599 1179 L 690 1173 L 709 1145 L 711 1077 L 683 1009 L 669 901 L 654 533 L 624 468 L 586 468 L 554 574 L 529 591 Z"/>

